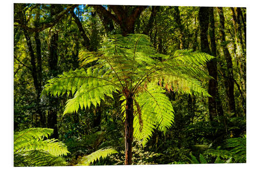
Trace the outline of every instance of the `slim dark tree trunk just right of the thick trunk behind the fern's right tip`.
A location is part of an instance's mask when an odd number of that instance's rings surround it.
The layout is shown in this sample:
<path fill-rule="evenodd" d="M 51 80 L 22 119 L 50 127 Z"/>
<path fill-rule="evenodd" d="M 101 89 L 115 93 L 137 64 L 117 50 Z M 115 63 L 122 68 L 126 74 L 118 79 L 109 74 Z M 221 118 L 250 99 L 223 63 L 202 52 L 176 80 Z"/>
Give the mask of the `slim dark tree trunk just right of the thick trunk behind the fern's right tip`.
<path fill-rule="evenodd" d="M 228 48 L 225 44 L 226 36 L 225 36 L 225 19 L 223 14 L 222 7 L 218 7 L 218 13 L 220 16 L 220 36 L 221 36 L 221 43 L 222 43 L 222 50 L 227 62 L 227 77 L 224 78 L 225 86 L 226 86 L 226 94 L 228 100 L 228 111 L 231 113 L 236 113 L 236 103 L 234 101 L 234 78 L 233 78 L 233 64 L 232 58 L 228 51 Z"/>

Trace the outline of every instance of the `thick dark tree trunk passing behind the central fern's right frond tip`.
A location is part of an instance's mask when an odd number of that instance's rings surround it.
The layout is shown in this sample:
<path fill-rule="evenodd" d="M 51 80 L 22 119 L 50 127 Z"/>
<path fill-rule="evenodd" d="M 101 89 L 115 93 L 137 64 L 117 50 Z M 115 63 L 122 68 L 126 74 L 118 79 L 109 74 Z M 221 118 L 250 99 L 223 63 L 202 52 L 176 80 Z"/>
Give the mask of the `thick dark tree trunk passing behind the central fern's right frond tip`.
<path fill-rule="evenodd" d="M 209 25 L 209 8 L 208 7 L 200 7 L 199 9 L 199 23 L 200 23 L 200 37 L 201 37 L 201 51 L 204 53 L 210 53 L 208 38 L 207 38 L 207 31 Z M 216 80 L 217 80 L 217 68 L 215 64 L 215 60 L 211 60 L 207 62 L 207 69 L 209 75 L 214 79 L 209 80 L 209 88 L 208 93 L 211 97 L 208 98 L 208 108 L 209 108 L 209 115 L 210 120 L 212 121 L 214 117 L 217 116 L 217 104 L 216 104 Z"/>

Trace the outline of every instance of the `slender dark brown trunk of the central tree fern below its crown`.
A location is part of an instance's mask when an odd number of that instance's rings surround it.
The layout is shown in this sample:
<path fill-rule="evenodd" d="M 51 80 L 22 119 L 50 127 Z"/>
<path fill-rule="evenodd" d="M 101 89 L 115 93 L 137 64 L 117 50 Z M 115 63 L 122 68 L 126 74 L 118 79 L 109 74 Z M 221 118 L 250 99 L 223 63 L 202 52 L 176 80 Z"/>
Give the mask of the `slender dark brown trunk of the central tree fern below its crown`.
<path fill-rule="evenodd" d="M 126 99 L 125 127 L 125 165 L 132 164 L 132 143 L 133 143 L 133 98 Z"/>

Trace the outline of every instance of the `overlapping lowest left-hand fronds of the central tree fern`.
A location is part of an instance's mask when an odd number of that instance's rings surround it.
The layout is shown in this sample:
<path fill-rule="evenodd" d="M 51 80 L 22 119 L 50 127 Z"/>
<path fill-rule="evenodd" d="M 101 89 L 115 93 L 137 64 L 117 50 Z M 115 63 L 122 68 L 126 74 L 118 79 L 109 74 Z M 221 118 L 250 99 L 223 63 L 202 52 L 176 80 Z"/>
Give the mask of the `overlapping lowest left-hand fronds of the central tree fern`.
<path fill-rule="evenodd" d="M 105 79 L 108 74 L 108 71 L 103 72 L 102 69 L 93 67 L 63 72 L 48 81 L 42 94 L 63 95 L 72 92 L 74 98 L 67 101 L 63 115 L 77 112 L 79 108 L 90 108 L 91 104 L 96 107 L 104 100 L 105 95 L 113 98 L 112 92 L 118 89 L 115 83 Z"/>

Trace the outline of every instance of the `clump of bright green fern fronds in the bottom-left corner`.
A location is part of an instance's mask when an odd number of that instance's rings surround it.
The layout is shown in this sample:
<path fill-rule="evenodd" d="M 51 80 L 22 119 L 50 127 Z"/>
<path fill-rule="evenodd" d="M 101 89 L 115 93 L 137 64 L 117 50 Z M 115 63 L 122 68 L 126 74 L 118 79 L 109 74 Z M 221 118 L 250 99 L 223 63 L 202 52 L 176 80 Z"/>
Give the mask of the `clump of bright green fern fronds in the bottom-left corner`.
<path fill-rule="evenodd" d="M 60 156 L 70 153 L 57 139 L 46 139 L 53 129 L 30 128 L 14 133 L 14 166 L 67 165 Z"/>

